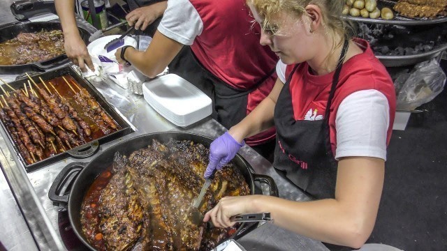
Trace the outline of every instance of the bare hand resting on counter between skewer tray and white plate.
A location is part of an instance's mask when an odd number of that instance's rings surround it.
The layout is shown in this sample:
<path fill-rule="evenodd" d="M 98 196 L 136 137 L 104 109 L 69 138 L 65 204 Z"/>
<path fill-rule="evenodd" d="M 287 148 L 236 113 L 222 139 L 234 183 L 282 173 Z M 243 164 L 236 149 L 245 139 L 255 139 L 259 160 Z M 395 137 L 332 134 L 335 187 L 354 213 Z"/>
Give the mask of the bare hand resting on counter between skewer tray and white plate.
<path fill-rule="evenodd" d="M 83 72 L 87 71 L 86 65 L 91 71 L 95 70 L 87 46 L 85 46 L 84 41 L 79 35 L 67 36 L 64 38 L 64 49 L 68 58 L 71 59 L 76 66 L 79 66 Z"/>

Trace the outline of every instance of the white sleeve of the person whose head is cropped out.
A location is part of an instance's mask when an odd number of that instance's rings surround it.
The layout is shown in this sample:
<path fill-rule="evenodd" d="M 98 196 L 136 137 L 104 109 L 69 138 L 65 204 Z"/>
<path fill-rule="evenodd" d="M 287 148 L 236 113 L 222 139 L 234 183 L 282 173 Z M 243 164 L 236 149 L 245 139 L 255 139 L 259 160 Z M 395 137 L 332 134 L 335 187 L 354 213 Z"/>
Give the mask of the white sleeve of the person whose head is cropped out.
<path fill-rule="evenodd" d="M 203 22 L 189 0 L 169 0 L 157 29 L 178 43 L 192 45 L 203 31 Z"/>

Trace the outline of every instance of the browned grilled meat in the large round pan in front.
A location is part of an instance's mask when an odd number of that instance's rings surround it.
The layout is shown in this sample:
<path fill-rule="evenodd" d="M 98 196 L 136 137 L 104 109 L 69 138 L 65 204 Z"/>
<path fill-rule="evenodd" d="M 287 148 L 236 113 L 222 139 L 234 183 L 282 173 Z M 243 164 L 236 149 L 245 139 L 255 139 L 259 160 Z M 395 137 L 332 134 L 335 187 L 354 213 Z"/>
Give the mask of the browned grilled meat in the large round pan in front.
<path fill-rule="evenodd" d="M 171 139 L 166 144 L 153 140 L 147 148 L 131 153 L 129 161 L 118 159 L 125 162 L 119 165 L 125 171 L 115 172 L 107 189 L 101 192 L 98 212 L 106 249 L 126 250 L 133 247 L 132 243 L 138 250 L 210 250 L 228 238 L 229 229 L 207 232 L 205 224 L 191 222 L 191 205 L 205 182 L 208 155 L 209 150 L 202 144 Z M 199 211 L 210 210 L 221 197 L 248 194 L 249 187 L 239 169 L 229 164 L 217 172 Z M 84 211 L 82 208 L 81 215 Z M 141 228 L 133 230 L 135 235 L 118 231 L 135 227 Z M 95 247 L 103 250 L 101 245 Z"/>

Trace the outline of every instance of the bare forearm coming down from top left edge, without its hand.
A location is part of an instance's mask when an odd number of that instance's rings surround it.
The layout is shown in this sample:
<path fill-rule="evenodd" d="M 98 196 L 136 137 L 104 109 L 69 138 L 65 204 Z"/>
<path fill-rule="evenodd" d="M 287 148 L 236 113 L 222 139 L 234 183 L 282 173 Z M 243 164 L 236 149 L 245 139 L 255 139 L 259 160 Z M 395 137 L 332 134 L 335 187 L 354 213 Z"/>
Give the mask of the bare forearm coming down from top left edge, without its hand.
<path fill-rule="evenodd" d="M 75 20 L 75 0 L 54 0 L 54 6 L 61 20 L 64 36 L 80 36 Z"/>

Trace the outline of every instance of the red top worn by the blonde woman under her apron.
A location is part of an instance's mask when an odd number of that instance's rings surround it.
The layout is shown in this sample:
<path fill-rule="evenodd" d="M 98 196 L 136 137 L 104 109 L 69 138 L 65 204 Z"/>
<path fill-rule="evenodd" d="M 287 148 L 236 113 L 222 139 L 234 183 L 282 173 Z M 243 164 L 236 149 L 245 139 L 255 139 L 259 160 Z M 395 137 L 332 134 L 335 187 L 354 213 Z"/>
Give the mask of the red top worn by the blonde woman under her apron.
<path fill-rule="evenodd" d="M 340 72 L 329 116 L 330 144 L 334 155 L 337 146 L 337 132 L 335 130 L 337 109 L 344 98 L 353 92 L 374 89 L 383 93 L 390 107 L 390 124 L 386 138 L 387 145 L 390 142 L 391 132 L 393 131 L 396 110 L 393 80 L 379 59 L 374 56 L 366 40 L 356 38 L 354 42 L 362 47 L 365 52 L 346 61 Z M 293 65 L 287 66 L 286 78 L 288 78 L 292 70 Z M 290 84 L 295 120 L 303 120 L 309 109 L 312 109 L 312 111 L 316 109 L 316 116 L 324 116 L 333 75 L 333 72 L 326 75 L 312 75 L 309 73 L 309 65 L 306 62 L 298 66 Z"/>

